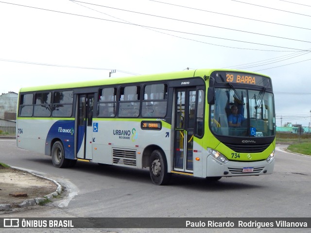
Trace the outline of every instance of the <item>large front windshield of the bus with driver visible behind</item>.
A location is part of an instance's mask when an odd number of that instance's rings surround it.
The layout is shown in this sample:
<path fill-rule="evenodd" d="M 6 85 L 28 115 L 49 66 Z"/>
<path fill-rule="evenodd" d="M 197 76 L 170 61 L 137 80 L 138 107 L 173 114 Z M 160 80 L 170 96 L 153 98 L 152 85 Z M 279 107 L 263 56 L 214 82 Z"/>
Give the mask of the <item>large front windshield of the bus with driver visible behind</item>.
<path fill-rule="evenodd" d="M 249 86 L 248 86 L 249 87 Z M 275 135 L 273 94 L 261 90 L 215 88 L 210 128 L 221 136 L 266 137 Z"/>

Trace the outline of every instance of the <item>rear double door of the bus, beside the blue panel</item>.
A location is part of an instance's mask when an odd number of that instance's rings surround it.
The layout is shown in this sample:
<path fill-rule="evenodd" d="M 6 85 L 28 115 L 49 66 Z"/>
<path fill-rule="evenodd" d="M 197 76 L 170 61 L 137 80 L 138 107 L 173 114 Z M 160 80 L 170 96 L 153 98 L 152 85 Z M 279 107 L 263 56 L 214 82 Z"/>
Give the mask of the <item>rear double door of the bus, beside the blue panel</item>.
<path fill-rule="evenodd" d="M 75 154 L 76 158 L 92 159 L 92 118 L 94 94 L 78 95 L 76 106 Z"/>

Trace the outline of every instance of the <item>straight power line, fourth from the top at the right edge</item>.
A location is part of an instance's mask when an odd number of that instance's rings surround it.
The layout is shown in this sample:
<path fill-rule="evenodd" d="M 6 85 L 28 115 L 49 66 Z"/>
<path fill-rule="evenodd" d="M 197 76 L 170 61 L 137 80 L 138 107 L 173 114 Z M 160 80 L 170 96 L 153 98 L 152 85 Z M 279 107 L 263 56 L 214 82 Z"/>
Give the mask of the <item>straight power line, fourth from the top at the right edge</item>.
<path fill-rule="evenodd" d="M 236 31 L 236 32 L 251 33 L 251 34 L 256 34 L 256 35 L 263 35 L 263 36 L 275 37 L 275 38 L 280 38 L 280 39 L 294 40 L 294 41 L 311 43 L 311 41 L 297 40 L 297 39 L 286 38 L 286 37 L 281 37 L 281 36 L 276 36 L 276 35 L 262 34 L 262 33 L 253 33 L 253 32 L 247 32 L 247 31 L 242 31 L 242 30 L 238 30 L 238 29 L 219 27 L 219 26 L 215 26 L 215 25 L 204 24 L 204 23 L 197 23 L 197 22 L 192 22 L 192 21 L 187 21 L 187 20 L 182 20 L 182 19 L 163 17 L 163 16 L 156 16 L 156 15 L 151 15 L 151 14 L 146 14 L 146 13 L 141 13 L 141 12 L 136 12 L 136 11 L 130 11 L 130 10 L 124 10 L 124 9 L 120 9 L 120 8 L 110 7 L 110 6 L 103 6 L 103 5 L 88 3 L 88 2 L 84 2 L 84 1 L 77 1 L 77 0 L 70 0 L 70 1 L 81 2 L 81 3 L 90 4 L 90 5 L 94 5 L 94 6 L 101 6 L 101 7 L 106 7 L 106 8 L 109 8 L 109 9 L 126 11 L 126 12 L 131 12 L 131 13 L 145 15 L 145 16 L 159 17 L 159 18 L 165 18 L 165 19 L 170 19 L 170 20 L 175 20 L 175 21 L 180 21 L 180 22 L 186 22 L 186 23 L 191 23 L 191 24 L 197 24 L 197 25 L 202 25 L 202 26 L 208 26 L 208 27 L 220 28 L 220 29 L 225 29 L 225 30 L 231 30 L 231 31 Z"/>

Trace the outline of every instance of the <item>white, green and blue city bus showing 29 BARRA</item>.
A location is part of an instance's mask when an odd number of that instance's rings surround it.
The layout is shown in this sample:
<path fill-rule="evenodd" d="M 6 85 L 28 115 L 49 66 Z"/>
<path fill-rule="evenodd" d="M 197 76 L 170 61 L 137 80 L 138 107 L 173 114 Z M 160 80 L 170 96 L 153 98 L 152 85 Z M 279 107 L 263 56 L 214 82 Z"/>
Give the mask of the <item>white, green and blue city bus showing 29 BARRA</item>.
<path fill-rule="evenodd" d="M 149 167 L 158 185 L 172 173 L 271 174 L 275 136 L 271 79 L 254 72 L 186 70 L 25 87 L 18 96 L 17 147 L 52 156 L 56 167 Z"/>

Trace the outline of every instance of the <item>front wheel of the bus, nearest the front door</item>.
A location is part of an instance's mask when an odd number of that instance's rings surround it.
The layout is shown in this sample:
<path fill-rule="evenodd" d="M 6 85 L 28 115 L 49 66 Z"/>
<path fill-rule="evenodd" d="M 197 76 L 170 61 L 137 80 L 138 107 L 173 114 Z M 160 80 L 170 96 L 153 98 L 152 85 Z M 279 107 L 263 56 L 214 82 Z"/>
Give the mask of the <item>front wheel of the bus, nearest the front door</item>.
<path fill-rule="evenodd" d="M 167 172 L 167 163 L 163 153 L 154 150 L 149 159 L 149 172 L 151 180 L 156 185 L 165 185 L 169 182 L 171 173 Z"/>

